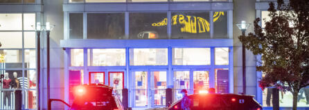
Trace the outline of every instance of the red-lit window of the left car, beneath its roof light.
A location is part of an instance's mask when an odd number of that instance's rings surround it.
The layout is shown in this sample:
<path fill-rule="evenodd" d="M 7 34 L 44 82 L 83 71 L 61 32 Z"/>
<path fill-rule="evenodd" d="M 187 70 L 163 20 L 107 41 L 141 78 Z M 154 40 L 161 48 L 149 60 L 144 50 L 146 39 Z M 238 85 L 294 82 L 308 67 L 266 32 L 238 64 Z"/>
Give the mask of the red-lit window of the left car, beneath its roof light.
<path fill-rule="evenodd" d="M 117 108 L 114 97 L 105 96 L 99 98 L 80 98 L 74 100 L 71 110 L 101 110 L 101 109 L 115 109 Z"/>

